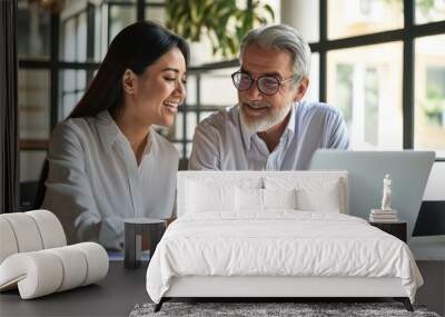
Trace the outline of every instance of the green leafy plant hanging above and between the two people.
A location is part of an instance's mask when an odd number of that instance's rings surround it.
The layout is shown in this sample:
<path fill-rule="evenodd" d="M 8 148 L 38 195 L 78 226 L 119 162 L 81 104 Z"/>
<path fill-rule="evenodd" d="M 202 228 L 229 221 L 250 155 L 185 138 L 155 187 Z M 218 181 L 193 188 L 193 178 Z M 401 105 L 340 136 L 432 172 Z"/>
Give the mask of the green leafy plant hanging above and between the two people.
<path fill-rule="evenodd" d="M 167 28 L 191 43 L 207 37 L 212 53 L 224 58 L 238 53 L 240 39 L 248 30 L 275 18 L 270 6 L 260 0 L 247 0 L 245 9 L 236 0 L 167 0 L 166 4 Z"/>

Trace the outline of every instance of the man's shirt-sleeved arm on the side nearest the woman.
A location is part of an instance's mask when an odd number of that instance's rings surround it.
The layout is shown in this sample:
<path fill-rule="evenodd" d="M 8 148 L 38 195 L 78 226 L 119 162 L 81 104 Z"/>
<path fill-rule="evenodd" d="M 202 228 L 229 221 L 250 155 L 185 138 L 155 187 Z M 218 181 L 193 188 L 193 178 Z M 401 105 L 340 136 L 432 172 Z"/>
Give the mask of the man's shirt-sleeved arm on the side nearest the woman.
<path fill-rule="evenodd" d="M 194 136 L 194 147 L 188 161 L 190 170 L 219 170 L 220 153 L 218 150 L 218 133 L 215 127 L 207 122 L 197 126 Z"/>

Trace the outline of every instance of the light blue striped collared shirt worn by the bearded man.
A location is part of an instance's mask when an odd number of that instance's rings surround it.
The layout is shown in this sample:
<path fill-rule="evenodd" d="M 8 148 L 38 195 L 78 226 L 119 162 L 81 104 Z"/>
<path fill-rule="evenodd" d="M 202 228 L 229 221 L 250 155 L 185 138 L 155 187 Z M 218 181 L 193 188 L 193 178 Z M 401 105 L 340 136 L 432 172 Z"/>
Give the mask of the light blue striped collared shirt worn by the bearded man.
<path fill-rule="evenodd" d="M 319 148 L 347 149 L 340 112 L 326 103 L 295 102 L 278 146 L 270 152 L 257 133 L 248 133 L 238 106 L 211 115 L 195 130 L 192 170 L 305 170 Z"/>

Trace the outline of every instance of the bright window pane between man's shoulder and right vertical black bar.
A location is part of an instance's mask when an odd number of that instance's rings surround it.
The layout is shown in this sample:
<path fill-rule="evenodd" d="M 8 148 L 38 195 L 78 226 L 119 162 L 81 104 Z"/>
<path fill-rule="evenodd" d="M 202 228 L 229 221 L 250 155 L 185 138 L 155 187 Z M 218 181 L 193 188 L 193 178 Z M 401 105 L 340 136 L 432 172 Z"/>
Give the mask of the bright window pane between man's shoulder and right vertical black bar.
<path fill-rule="evenodd" d="M 345 117 L 352 148 L 402 149 L 402 43 L 330 50 L 327 101 Z"/>

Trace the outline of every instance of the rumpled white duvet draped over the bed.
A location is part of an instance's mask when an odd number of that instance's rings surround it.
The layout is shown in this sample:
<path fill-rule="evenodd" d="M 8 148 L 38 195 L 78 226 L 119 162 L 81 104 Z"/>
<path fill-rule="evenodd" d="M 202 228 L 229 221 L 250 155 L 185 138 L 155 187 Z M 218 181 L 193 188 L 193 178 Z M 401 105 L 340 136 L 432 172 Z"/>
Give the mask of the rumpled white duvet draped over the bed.
<path fill-rule="evenodd" d="M 159 303 L 184 276 L 398 277 L 412 301 L 423 284 L 399 239 L 353 216 L 296 210 L 180 217 L 150 260 L 147 291 Z"/>

